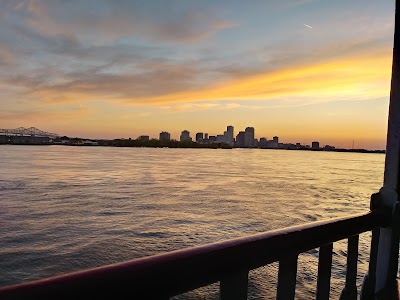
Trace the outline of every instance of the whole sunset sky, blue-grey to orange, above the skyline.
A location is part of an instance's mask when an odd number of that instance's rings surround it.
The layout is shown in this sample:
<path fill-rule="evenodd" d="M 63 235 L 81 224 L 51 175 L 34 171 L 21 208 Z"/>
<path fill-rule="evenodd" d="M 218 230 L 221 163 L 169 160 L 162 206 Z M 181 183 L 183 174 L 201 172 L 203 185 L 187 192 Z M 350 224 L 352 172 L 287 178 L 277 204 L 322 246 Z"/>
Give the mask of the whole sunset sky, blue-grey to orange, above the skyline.
<path fill-rule="evenodd" d="M 394 1 L 0 1 L 0 128 L 384 149 Z"/>

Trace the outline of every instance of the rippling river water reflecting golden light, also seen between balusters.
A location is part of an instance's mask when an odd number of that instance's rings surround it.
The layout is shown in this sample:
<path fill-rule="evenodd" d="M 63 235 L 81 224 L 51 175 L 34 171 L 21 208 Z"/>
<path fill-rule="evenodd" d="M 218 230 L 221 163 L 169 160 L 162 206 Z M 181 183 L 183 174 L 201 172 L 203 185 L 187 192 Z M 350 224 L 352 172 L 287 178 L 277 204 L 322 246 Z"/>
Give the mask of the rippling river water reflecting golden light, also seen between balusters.
<path fill-rule="evenodd" d="M 383 169 L 383 154 L 3 145 L 0 286 L 367 211 Z M 361 235 L 359 284 L 369 243 Z M 314 297 L 317 257 L 299 257 L 297 299 Z M 335 243 L 332 298 L 345 260 Z M 276 275 L 251 271 L 249 299 L 274 298 Z"/>

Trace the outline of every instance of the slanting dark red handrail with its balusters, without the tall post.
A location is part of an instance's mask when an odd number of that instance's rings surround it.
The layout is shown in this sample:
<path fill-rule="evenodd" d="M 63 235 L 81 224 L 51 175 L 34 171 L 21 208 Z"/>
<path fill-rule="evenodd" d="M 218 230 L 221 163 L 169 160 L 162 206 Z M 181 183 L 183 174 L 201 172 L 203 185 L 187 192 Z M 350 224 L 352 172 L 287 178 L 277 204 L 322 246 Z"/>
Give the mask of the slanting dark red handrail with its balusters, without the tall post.
<path fill-rule="evenodd" d="M 329 299 L 332 248 L 348 239 L 342 299 L 356 299 L 358 235 L 390 223 L 381 211 L 318 221 L 0 289 L 0 299 L 168 299 L 220 281 L 220 299 L 247 299 L 248 272 L 279 261 L 277 299 L 295 295 L 297 257 L 319 247 L 316 299 Z M 373 232 L 369 278 L 375 277 Z M 374 243 L 375 241 L 375 243 Z M 373 287 L 372 287 L 373 289 Z"/>

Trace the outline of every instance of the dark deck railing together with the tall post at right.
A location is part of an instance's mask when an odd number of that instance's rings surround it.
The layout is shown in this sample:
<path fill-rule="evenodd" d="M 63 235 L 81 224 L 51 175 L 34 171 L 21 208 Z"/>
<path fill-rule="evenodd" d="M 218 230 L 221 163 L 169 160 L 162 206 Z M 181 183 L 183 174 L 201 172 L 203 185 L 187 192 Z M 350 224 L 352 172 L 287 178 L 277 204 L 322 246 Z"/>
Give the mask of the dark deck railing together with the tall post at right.
<path fill-rule="evenodd" d="M 400 0 L 396 0 L 400 7 Z M 319 247 L 317 299 L 329 299 L 332 243 L 348 239 L 341 299 L 356 299 L 358 235 L 372 230 L 362 299 L 387 293 L 398 272 L 400 235 L 400 14 L 395 15 L 384 185 L 372 211 L 0 288 L 0 299 L 168 299 L 220 281 L 220 298 L 246 299 L 248 272 L 279 261 L 277 299 L 295 296 L 297 257 Z M 387 226 L 387 227 L 386 227 Z M 375 291 L 376 287 L 376 291 Z"/>

